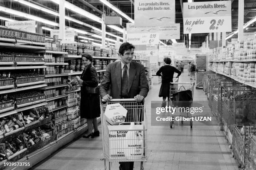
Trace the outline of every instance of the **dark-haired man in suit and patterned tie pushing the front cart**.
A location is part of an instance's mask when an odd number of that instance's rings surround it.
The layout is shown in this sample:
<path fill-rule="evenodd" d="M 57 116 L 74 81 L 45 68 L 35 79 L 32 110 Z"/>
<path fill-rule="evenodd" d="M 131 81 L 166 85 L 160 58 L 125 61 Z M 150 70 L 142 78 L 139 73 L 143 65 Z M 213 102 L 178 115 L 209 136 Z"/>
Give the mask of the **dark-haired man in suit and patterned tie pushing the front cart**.
<path fill-rule="evenodd" d="M 123 43 L 118 52 L 121 61 L 107 66 L 100 84 L 100 96 L 103 100 L 134 98 L 136 102 L 141 102 L 148 95 L 149 88 L 144 66 L 132 61 L 134 49 L 135 47 L 129 42 Z M 119 169 L 133 170 L 133 162 L 120 162 Z"/>

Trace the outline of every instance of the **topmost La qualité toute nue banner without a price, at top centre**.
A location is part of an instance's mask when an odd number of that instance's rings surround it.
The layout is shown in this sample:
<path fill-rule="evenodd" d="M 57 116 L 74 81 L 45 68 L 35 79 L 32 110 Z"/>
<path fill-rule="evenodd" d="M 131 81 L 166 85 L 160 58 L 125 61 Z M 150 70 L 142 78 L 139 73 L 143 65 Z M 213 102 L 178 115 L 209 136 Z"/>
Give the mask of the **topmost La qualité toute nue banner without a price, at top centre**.
<path fill-rule="evenodd" d="M 136 27 L 175 23 L 175 0 L 135 0 L 134 22 Z"/>

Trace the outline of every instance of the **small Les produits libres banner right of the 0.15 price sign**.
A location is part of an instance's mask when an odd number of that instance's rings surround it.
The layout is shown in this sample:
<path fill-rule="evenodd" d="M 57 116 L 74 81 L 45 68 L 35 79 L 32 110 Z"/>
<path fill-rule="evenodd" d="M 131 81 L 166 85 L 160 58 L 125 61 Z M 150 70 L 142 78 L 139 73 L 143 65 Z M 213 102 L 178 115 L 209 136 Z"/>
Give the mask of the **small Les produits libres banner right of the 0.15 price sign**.
<path fill-rule="evenodd" d="M 176 39 L 179 40 L 179 24 L 170 24 L 168 26 L 159 27 L 159 39 L 160 40 L 170 40 Z"/>

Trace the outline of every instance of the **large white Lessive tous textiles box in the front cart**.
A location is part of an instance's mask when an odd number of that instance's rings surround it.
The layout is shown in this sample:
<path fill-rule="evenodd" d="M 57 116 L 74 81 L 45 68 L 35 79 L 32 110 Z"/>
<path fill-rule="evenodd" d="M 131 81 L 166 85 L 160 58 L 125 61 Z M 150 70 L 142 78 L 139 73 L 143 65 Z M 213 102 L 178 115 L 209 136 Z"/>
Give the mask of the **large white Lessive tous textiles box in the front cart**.
<path fill-rule="evenodd" d="M 109 128 L 110 159 L 141 160 L 144 156 L 143 125 L 115 125 Z"/>

